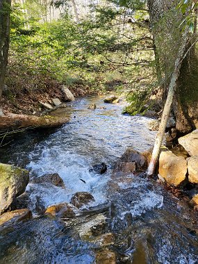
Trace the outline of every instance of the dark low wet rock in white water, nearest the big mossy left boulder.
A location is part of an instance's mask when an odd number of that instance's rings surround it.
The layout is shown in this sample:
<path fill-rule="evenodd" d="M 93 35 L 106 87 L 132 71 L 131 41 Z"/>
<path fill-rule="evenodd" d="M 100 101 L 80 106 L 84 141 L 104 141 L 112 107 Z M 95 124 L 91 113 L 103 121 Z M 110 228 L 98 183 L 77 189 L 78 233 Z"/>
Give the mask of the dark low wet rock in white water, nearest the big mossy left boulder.
<path fill-rule="evenodd" d="M 31 179 L 31 183 L 51 183 L 57 187 L 65 188 L 65 184 L 63 182 L 63 179 L 60 178 L 58 173 L 53 174 L 44 174 L 40 177 L 35 177 Z"/>

